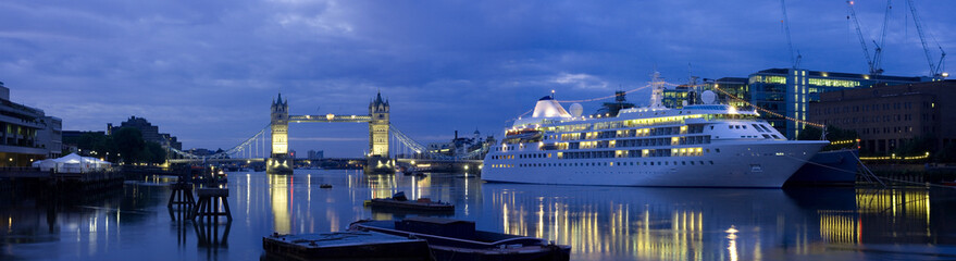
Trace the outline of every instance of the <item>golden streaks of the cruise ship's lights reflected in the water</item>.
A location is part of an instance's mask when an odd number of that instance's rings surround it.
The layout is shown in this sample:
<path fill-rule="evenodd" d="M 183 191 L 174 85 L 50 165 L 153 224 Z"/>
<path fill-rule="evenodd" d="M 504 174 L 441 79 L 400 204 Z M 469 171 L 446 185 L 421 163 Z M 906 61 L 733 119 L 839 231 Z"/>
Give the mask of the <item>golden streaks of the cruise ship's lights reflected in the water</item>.
<path fill-rule="evenodd" d="M 494 195 L 507 234 L 554 240 L 583 253 L 626 252 L 647 260 L 706 259 L 700 210 L 645 206 L 632 215 L 632 206 L 626 203 L 569 206 L 561 198 L 539 197 L 534 199 L 535 211 L 530 212 L 524 208 L 529 202 L 520 202 L 520 196 L 509 191 Z"/>

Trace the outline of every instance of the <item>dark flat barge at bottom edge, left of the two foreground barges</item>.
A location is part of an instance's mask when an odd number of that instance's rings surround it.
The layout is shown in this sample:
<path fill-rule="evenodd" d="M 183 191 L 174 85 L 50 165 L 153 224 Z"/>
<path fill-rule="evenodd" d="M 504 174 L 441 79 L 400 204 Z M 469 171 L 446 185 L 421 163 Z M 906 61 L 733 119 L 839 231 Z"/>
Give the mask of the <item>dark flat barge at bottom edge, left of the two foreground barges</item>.
<path fill-rule="evenodd" d="M 262 237 L 266 254 L 295 260 L 432 260 L 429 245 L 376 232 L 337 232 Z"/>

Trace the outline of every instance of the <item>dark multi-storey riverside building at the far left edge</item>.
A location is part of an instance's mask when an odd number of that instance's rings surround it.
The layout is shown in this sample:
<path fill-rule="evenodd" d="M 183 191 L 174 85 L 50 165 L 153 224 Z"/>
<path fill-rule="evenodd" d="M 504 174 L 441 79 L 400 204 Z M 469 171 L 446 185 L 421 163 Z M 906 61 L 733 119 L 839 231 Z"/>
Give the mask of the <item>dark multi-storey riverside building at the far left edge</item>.
<path fill-rule="evenodd" d="M 10 89 L 2 83 L 0 112 L 0 165 L 28 166 L 36 160 L 60 157 L 62 120 L 10 101 Z"/>

